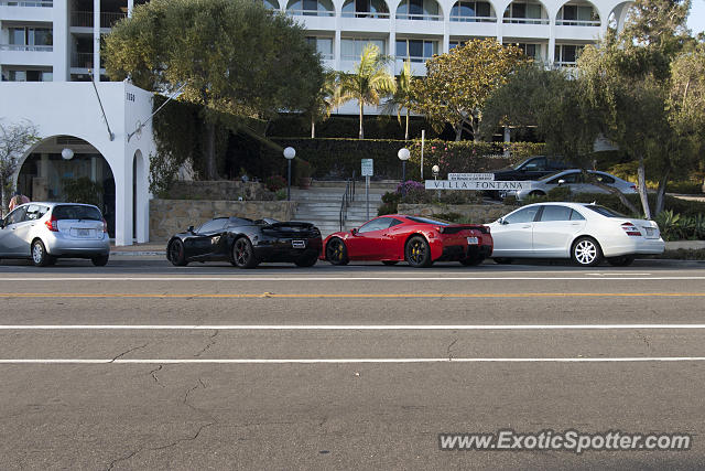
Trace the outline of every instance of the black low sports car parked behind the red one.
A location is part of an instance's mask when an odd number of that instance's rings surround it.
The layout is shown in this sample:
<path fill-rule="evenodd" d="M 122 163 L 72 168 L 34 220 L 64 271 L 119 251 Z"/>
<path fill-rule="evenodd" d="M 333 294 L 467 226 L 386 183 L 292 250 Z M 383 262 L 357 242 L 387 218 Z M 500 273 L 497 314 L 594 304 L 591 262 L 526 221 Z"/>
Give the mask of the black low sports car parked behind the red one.
<path fill-rule="evenodd" d="M 240 268 L 254 268 L 261 261 L 311 267 L 321 246 L 321 231 L 311 223 L 216 217 L 174 235 L 166 245 L 166 258 L 176 266 L 228 260 Z"/>

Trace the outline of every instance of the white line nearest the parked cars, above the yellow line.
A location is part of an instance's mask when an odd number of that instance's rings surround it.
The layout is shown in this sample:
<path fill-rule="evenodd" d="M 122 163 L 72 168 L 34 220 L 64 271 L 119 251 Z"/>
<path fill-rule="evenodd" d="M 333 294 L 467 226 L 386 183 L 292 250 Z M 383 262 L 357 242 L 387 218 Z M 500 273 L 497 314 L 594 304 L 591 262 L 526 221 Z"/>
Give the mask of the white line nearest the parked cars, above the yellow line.
<path fill-rule="evenodd" d="M 616 274 L 621 276 L 622 274 Z M 507 281 L 507 280 L 582 280 L 582 281 L 604 281 L 600 277 L 595 276 L 575 276 L 575 277 L 11 277 L 2 278 L 0 281 L 26 281 L 26 282 L 46 282 L 46 281 Z M 682 277 L 682 276 L 662 276 L 662 277 L 643 277 L 623 274 L 622 278 L 610 277 L 609 281 L 630 281 L 630 280 L 705 280 L 703 277 Z"/>

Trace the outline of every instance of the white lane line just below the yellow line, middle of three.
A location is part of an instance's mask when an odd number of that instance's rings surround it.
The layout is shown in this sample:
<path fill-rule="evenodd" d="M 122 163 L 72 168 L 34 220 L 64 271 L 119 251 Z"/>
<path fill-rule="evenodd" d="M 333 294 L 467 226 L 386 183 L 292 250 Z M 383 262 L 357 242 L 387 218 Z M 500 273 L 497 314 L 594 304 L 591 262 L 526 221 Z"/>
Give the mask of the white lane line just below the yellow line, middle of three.
<path fill-rule="evenodd" d="M 0 325 L 2 330 L 232 330 L 232 331 L 254 331 L 254 330 L 343 330 L 343 331 L 394 331 L 394 330 L 655 330 L 655 329 L 705 329 L 705 324 L 6 324 Z"/>

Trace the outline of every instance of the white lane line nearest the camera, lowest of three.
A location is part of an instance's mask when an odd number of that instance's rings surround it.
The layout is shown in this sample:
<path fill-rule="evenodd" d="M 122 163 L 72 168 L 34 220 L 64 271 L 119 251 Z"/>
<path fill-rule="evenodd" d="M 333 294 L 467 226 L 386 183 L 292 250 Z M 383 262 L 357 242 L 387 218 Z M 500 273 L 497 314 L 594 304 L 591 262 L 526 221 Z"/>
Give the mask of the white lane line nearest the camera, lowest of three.
<path fill-rule="evenodd" d="M 627 363 L 705 362 L 705 356 L 614 358 L 0 358 L 0 364 L 341 364 L 341 363 Z"/>

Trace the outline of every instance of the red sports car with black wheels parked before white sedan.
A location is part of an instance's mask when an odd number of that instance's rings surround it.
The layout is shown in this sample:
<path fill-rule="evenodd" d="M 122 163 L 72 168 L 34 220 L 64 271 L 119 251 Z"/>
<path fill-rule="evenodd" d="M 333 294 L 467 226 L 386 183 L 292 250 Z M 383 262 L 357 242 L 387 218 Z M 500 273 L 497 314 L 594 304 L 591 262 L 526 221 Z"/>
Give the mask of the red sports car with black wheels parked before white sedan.
<path fill-rule="evenodd" d="M 346 265 L 350 260 L 394 265 L 406 260 L 412 267 L 421 268 L 446 260 L 478 265 L 491 254 L 492 236 L 487 226 L 389 214 L 368 221 L 357 229 L 329 235 L 323 243 L 321 258 L 333 265 Z"/>

